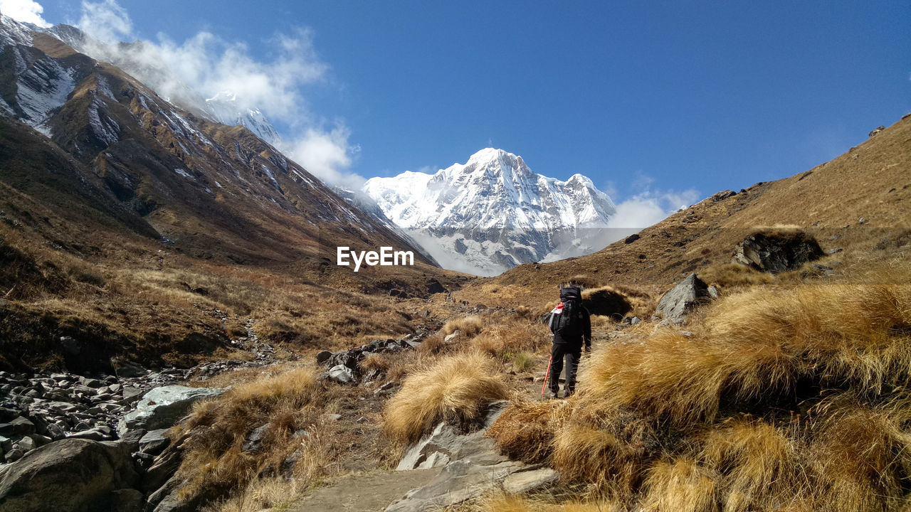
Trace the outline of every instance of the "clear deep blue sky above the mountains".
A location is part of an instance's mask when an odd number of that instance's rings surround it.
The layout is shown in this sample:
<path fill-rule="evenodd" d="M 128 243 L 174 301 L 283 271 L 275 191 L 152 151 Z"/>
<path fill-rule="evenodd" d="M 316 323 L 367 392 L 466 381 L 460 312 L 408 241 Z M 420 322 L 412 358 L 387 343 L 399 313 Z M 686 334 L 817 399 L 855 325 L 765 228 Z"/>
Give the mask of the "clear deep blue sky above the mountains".
<path fill-rule="evenodd" d="M 206 32 L 213 55 L 241 47 L 272 69 L 290 57 L 277 36 L 302 38 L 319 73 L 264 110 L 288 140 L 324 136 L 309 148 L 336 153 L 312 165 L 341 176 L 493 146 L 671 208 L 810 169 L 911 112 L 906 1 L 39 3 L 50 23 L 119 6 L 131 24 L 115 36 Z"/>

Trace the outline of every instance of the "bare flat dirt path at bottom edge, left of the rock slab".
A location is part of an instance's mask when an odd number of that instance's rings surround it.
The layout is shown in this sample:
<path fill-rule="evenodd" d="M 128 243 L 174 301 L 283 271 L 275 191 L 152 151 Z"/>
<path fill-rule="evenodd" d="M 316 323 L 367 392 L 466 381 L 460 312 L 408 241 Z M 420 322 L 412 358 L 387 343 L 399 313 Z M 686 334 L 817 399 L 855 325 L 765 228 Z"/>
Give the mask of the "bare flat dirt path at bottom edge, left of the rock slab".
<path fill-rule="evenodd" d="M 301 497 L 288 512 L 382 512 L 406 492 L 430 482 L 440 469 L 371 471 L 343 476 Z"/>

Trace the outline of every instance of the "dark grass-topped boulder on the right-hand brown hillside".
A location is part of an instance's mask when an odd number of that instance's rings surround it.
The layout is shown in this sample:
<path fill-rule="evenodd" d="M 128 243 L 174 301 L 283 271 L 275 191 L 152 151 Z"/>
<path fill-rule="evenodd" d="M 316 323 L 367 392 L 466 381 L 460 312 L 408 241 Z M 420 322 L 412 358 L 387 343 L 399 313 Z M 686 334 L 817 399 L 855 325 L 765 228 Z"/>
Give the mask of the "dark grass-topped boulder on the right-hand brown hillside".
<path fill-rule="evenodd" d="M 769 230 L 752 234 L 734 248 L 733 261 L 758 271 L 793 271 L 824 256 L 812 236 L 803 230 Z"/>

